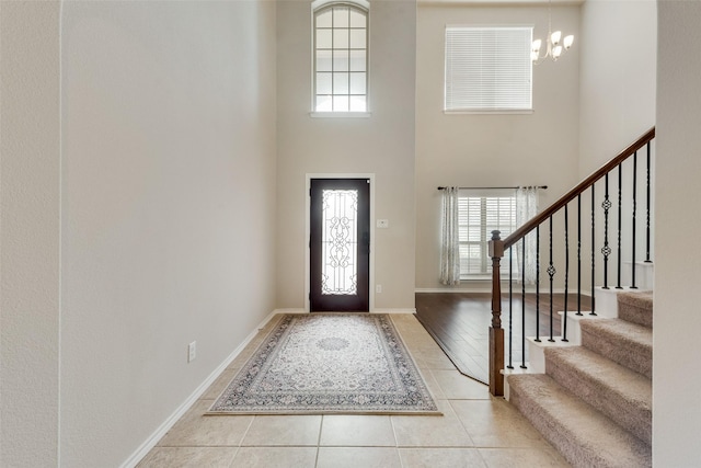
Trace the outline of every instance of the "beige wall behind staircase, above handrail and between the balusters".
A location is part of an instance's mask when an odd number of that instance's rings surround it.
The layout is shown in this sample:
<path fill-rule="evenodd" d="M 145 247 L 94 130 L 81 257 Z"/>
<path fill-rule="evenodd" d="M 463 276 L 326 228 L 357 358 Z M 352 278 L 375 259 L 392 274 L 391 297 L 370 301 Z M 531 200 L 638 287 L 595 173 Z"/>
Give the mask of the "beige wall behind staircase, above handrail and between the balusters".
<path fill-rule="evenodd" d="M 582 66 L 579 75 L 579 179 L 585 179 L 604 163 L 608 162 L 619 151 L 635 141 L 641 135 L 655 125 L 655 90 L 656 90 L 656 56 L 657 56 L 657 11 L 654 0 L 612 1 L 588 0 L 582 5 Z M 652 146 L 654 191 L 655 151 Z M 632 187 L 632 159 L 623 164 L 624 203 L 622 212 L 622 238 L 630 239 L 632 229 L 630 199 Z M 618 174 L 610 179 L 610 194 L 614 203 L 610 214 L 610 222 L 617 222 L 616 198 L 618 193 Z M 637 214 L 636 240 L 637 261 L 645 258 L 645 186 L 646 163 L 645 151 L 637 160 Z M 604 197 L 604 182 L 596 187 L 597 239 L 604 239 L 604 213 L 600 204 Z M 587 209 L 589 195 L 587 198 Z M 654 197 L 651 213 L 654 219 Z M 585 231 L 588 217 L 585 220 Z M 651 229 L 654 239 L 655 226 Z M 609 267 L 609 284 L 616 278 L 616 259 L 618 251 L 614 237 L 610 238 L 611 256 Z M 583 249 L 590 251 L 589 236 L 585 237 Z M 622 284 L 630 277 L 631 249 L 621 252 L 624 261 L 622 267 Z M 654 244 L 651 246 L 651 258 L 654 259 Z M 590 255 L 587 255 L 588 266 Z M 597 285 L 602 284 L 602 255 L 597 249 Z M 587 275 L 588 276 L 588 275 Z M 588 287 L 587 277 L 587 287 Z"/>

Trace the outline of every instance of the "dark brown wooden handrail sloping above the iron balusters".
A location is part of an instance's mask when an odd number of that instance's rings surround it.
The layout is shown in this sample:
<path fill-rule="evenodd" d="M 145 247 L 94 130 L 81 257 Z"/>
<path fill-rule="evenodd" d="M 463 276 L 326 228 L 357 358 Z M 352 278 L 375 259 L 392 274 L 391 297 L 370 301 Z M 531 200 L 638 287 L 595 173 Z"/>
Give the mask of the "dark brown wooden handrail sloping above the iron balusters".
<path fill-rule="evenodd" d="M 609 162 L 599 168 L 591 175 L 582 181 L 577 186 L 572 189 L 570 192 L 564 194 L 560 199 L 550 205 L 547 209 L 541 212 L 539 215 L 531 218 L 528 222 L 526 222 L 520 228 L 516 229 L 512 232 L 506 239 L 504 239 L 504 250 L 514 246 L 517 241 L 519 241 L 528 232 L 536 229 L 538 225 L 545 221 L 550 216 L 556 213 L 559 209 L 564 207 L 567 203 L 575 199 L 578 195 L 581 195 L 584 191 L 589 189 L 596 181 L 605 176 L 608 172 L 613 170 L 618 164 L 623 162 L 630 156 L 632 156 L 635 151 L 647 145 L 653 138 L 655 138 L 655 127 L 652 127 L 647 133 L 645 133 L 642 137 L 637 139 L 637 141 L 630 145 L 628 148 L 618 153 L 618 156 L 611 159 Z"/>

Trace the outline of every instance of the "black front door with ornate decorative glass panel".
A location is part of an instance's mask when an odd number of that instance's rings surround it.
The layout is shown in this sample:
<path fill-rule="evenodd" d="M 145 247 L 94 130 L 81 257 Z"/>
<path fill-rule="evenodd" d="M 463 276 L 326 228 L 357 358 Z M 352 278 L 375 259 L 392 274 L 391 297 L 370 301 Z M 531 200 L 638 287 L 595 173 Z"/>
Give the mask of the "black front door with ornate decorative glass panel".
<path fill-rule="evenodd" d="M 370 181 L 312 179 L 310 310 L 368 311 Z"/>

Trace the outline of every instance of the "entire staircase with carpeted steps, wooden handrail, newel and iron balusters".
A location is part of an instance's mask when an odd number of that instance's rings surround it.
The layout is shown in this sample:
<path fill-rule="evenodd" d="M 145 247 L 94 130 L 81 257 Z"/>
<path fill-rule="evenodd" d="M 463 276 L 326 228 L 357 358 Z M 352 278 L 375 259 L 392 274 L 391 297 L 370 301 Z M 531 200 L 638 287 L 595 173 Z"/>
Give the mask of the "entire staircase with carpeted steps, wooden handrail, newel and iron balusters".
<path fill-rule="evenodd" d="M 505 239 L 498 230 L 492 231 L 490 392 L 504 395 L 575 467 L 652 466 L 654 137 L 652 128 Z M 642 216 L 636 216 L 639 212 Z M 555 217 L 561 227 L 553 222 Z M 533 237 L 535 252 L 528 253 L 526 241 Z M 520 255 L 521 277 L 515 284 L 512 259 L 518 246 L 526 253 Z M 556 249 L 563 258 L 553 255 Z M 514 343 L 515 326 L 520 324 L 526 336 L 525 317 L 516 321 L 514 317 L 519 310 L 519 286 L 520 310 L 525 310 L 527 256 L 536 265 L 536 317 L 530 324 L 535 336 Z M 505 297 L 502 259 L 508 269 Z M 552 297 L 558 281 L 564 289 L 564 307 L 573 305 L 567 303 L 573 294 L 576 312 L 561 312 L 561 334 L 555 336 Z M 550 296 L 549 311 L 539 309 L 541 294 Z M 594 298 L 591 311 L 583 312 L 583 296 Z M 502 303 L 508 310 L 507 335 Z M 514 349 L 520 349 L 518 365 Z"/>

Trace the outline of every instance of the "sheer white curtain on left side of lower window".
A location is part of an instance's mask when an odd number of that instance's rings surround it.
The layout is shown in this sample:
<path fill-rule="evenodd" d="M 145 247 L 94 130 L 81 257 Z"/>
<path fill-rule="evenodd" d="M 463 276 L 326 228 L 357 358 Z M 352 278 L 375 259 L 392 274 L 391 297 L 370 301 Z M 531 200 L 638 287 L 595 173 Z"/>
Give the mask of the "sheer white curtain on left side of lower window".
<path fill-rule="evenodd" d="M 440 283 L 446 285 L 460 283 L 458 193 L 458 187 L 446 187 L 443 191 Z"/>

